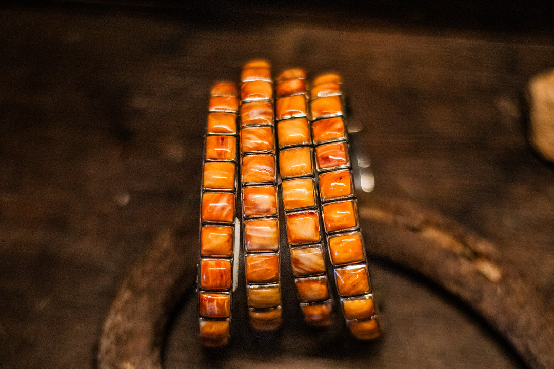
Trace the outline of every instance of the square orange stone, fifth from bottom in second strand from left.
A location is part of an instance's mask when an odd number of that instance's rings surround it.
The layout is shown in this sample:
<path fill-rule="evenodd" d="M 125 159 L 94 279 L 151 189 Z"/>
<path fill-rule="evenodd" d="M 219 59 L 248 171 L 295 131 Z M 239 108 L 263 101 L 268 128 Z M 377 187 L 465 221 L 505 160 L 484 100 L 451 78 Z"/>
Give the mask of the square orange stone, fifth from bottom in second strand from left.
<path fill-rule="evenodd" d="M 243 187 L 244 216 L 276 216 L 276 186 Z"/>

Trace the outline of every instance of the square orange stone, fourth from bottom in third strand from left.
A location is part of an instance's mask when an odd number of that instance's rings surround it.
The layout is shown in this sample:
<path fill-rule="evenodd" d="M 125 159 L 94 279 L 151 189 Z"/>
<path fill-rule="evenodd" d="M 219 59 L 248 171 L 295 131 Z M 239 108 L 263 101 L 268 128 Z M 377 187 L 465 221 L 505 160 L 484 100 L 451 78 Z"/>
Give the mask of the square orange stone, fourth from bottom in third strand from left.
<path fill-rule="evenodd" d="M 315 243 L 320 240 L 317 211 L 301 211 L 286 215 L 286 235 L 291 245 Z"/>

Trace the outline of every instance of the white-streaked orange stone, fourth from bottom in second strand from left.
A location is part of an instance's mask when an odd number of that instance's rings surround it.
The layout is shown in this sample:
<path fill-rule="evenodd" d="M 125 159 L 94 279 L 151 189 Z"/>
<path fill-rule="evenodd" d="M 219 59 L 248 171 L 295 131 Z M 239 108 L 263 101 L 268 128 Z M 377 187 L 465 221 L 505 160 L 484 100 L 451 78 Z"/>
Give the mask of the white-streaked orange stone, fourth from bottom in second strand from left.
<path fill-rule="evenodd" d="M 245 220 L 244 243 L 248 252 L 278 250 L 279 226 L 277 219 Z"/>

